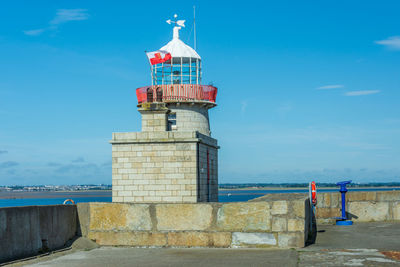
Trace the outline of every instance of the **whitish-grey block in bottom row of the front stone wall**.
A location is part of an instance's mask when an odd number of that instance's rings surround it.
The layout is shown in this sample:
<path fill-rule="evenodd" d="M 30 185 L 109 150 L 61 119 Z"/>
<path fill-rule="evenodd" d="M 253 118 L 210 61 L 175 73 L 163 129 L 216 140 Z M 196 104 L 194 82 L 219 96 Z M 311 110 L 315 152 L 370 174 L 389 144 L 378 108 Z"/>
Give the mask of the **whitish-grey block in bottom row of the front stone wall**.
<path fill-rule="evenodd" d="M 275 246 L 276 238 L 271 233 L 232 233 L 233 247 L 246 247 L 249 245 Z"/>

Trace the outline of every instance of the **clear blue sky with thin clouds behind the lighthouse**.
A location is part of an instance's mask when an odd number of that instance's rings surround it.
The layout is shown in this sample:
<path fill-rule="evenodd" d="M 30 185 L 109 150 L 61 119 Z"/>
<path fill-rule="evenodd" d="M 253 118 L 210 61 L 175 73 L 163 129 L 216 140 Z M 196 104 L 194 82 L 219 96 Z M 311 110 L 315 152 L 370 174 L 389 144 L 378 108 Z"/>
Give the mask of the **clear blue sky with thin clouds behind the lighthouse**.
<path fill-rule="evenodd" d="M 221 183 L 400 181 L 399 1 L 1 1 L 0 184 L 111 183 L 144 50 L 196 5 Z"/>

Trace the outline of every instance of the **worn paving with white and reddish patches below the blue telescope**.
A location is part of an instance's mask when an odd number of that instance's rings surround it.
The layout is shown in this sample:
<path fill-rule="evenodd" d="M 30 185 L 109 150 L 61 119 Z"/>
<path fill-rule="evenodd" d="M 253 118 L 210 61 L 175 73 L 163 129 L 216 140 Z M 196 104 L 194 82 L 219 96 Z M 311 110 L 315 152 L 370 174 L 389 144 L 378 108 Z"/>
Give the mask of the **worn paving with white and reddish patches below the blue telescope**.
<path fill-rule="evenodd" d="M 322 225 L 298 266 L 400 266 L 400 223 Z"/>

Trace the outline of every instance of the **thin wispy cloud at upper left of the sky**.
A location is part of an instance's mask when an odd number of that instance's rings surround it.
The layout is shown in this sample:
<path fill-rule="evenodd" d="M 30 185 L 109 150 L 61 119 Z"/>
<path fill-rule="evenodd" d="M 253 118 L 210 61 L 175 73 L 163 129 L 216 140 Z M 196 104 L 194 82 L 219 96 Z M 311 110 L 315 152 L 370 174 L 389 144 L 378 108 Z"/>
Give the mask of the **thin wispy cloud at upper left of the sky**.
<path fill-rule="evenodd" d="M 56 16 L 49 22 L 49 26 L 47 28 L 26 30 L 23 32 L 25 35 L 28 36 L 38 36 L 48 30 L 57 30 L 60 24 L 69 21 L 87 20 L 88 18 L 89 14 L 87 13 L 87 9 L 58 9 L 56 12 Z"/>

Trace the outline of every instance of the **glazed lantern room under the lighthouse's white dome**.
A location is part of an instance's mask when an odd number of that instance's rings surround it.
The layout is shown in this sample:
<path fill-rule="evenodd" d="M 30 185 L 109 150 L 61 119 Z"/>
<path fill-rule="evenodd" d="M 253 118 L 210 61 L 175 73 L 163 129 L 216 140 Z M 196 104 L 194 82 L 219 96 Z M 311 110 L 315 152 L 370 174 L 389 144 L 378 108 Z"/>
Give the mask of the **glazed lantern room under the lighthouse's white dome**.
<path fill-rule="evenodd" d="M 151 66 L 152 85 L 201 84 L 201 60 L 174 57 Z"/>

